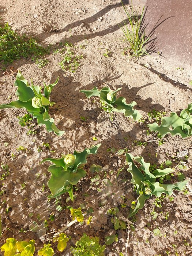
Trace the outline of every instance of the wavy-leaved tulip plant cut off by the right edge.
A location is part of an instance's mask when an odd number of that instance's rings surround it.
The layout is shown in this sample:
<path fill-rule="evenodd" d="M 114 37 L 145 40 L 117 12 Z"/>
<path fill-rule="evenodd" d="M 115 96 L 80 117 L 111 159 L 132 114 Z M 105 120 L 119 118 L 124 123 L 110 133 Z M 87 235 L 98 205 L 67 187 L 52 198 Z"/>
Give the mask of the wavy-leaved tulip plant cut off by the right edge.
<path fill-rule="evenodd" d="M 161 118 L 161 125 L 157 123 L 148 124 L 151 131 L 157 131 L 164 137 L 167 133 L 172 136 L 180 135 L 182 138 L 188 138 L 192 135 L 192 103 L 187 109 L 183 109 L 180 116 L 171 112 L 169 117 Z"/>

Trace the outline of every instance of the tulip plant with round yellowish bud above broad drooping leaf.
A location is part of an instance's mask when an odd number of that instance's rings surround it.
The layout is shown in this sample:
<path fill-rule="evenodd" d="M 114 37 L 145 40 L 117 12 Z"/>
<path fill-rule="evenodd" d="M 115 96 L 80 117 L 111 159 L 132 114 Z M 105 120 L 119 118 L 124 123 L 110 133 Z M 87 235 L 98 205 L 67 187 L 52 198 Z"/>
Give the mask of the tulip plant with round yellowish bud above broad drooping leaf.
<path fill-rule="evenodd" d="M 73 185 L 76 185 L 81 178 L 86 176 L 86 171 L 80 168 L 80 165 L 87 162 L 88 155 L 97 154 L 100 146 L 101 144 L 97 144 L 91 148 L 85 148 L 82 152 L 75 150 L 73 154 L 64 155 L 59 159 L 46 158 L 41 161 L 41 163 L 45 161 L 54 163 L 48 167 L 48 172 L 51 173 L 48 187 L 52 193 L 48 198 L 54 198 L 68 192 L 73 201 Z"/>

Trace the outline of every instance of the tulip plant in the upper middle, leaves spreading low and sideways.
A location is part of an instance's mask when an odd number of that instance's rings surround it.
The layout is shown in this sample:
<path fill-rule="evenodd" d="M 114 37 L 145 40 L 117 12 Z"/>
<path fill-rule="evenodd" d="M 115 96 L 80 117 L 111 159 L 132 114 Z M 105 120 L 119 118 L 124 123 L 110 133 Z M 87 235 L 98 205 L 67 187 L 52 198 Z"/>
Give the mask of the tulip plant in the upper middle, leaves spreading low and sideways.
<path fill-rule="evenodd" d="M 120 112 L 124 113 L 126 117 L 132 117 L 135 121 L 138 121 L 142 115 L 138 110 L 133 109 L 136 105 L 136 102 L 133 101 L 130 104 L 126 103 L 126 99 L 123 97 L 117 98 L 116 94 L 121 88 L 116 91 L 110 90 L 109 87 L 103 87 L 100 91 L 97 87 L 94 87 L 93 90 L 80 90 L 81 93 L 86 94 L 87 98 L 92 96 L 97 96 L 101 100 L 102 106 L 101 109 L 104 109 L 106 112 Z"/>

